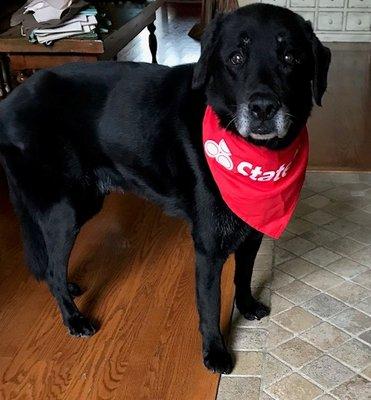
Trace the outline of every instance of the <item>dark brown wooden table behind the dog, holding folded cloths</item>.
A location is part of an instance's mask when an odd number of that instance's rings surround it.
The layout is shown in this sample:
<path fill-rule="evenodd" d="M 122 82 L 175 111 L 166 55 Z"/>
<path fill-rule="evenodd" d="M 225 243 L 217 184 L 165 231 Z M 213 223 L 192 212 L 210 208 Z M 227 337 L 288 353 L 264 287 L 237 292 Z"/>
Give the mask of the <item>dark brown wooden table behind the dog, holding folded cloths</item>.
<path fill-rule="evenodd" d="M 35 70 L 75 61 L 114 59 L 117 53 L 145 27 L 149 31 L 152 62 L 156 63 L 156 10 L 165 0 L 134 0 L 96 3 L 98 11 L 112 22 L 109 33 L 100 40 L 63 39 L 52 46 L 30 43 L 21 36 L 20 26 L 0 34 L 0 97 Z"/>

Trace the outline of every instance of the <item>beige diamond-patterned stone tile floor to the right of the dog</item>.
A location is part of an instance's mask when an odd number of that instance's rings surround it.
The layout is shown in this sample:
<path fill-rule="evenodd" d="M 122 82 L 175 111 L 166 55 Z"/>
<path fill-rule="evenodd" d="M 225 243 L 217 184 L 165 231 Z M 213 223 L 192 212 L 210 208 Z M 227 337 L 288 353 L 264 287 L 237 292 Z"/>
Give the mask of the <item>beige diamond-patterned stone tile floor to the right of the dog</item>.
<path fill-rule="evenodd" d="M 272 311 L 229 338 L 218 400 L 371 398 L 371 174 L 308 173 L 283 237 L 263 241 L 255 294 Z"/>

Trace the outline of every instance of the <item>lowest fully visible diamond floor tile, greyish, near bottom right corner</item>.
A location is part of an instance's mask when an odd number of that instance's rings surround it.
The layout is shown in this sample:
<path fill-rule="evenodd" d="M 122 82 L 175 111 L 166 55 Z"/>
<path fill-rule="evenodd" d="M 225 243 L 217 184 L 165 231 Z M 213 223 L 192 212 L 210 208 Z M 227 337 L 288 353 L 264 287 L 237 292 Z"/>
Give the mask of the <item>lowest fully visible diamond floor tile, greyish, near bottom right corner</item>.
<path fill-rule="evenodd" d="M 355 375 L 352 370 L 327 355 L 306 365 L 301 372 L 325 389 L 332 389 Z"/>

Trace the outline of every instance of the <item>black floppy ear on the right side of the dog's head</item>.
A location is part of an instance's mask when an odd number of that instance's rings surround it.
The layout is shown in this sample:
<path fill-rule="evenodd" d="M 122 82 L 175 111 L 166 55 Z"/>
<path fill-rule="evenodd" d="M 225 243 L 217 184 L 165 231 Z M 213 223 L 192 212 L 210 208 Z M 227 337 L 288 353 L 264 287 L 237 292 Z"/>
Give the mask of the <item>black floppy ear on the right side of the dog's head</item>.
<path fill-rule="evenodd" d="M 331 62 L 331 51 L 325 47 L 314 34 L 312 25 L 307 22 L 310 27 L 310 35 L 312 42 L 312 53 L 314 60 L 314 72 L 313 72 L 313 97 L 317 105 L 321 106 L 322 96 L 327 88 L 327 73 Z"/>

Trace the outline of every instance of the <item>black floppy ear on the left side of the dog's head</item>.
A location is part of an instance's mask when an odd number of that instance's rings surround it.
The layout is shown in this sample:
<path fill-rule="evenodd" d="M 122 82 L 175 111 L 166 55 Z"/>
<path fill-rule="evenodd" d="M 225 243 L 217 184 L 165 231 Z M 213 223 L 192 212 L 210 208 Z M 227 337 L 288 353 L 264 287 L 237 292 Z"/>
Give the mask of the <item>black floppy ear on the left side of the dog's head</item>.
<path fill-rule="evenodd" d="M 220 23 L 224 18 L 223 14 L 217 14 L 215 18 L 207 25 L 201 38 L 201 56 L 195 65 L 193 72 L 193 89 L 199 89 L 204 86 L 208 80 L 212 55 L 214 54 L 218 42 L 218 30 Z"/>

